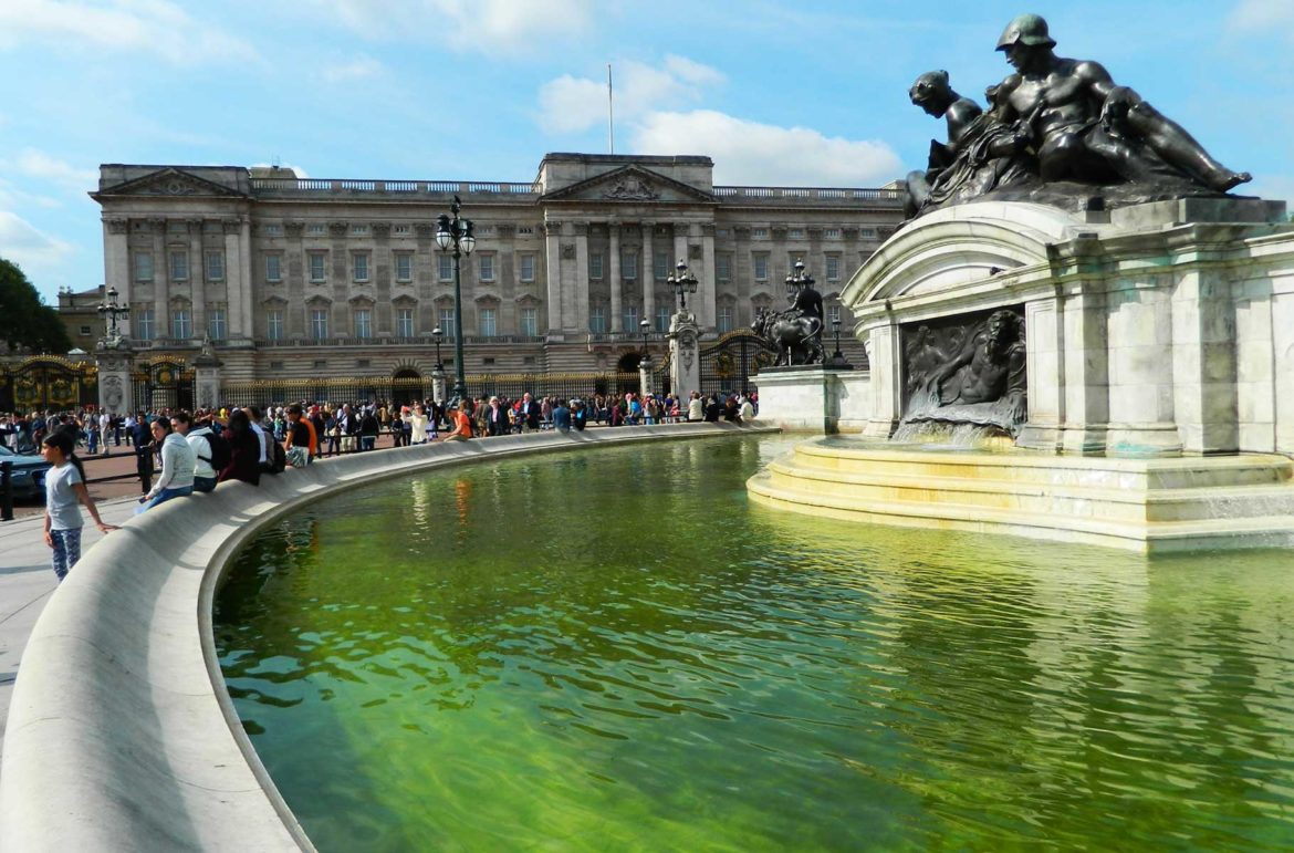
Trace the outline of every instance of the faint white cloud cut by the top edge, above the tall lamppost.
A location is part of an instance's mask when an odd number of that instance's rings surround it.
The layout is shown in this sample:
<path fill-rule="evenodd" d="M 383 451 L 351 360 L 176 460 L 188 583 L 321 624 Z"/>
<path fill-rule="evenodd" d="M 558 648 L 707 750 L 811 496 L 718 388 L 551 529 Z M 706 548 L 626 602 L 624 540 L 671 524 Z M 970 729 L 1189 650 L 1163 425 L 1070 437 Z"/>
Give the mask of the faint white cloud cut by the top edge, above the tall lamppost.
<path fill-rule="evenodd" d="M 459 50 L 505 54 L 538 52 L 554 39 L 572 40 L 591 26 L 593 0 L 313 0 L 364 39 L 440 39 Z"/>

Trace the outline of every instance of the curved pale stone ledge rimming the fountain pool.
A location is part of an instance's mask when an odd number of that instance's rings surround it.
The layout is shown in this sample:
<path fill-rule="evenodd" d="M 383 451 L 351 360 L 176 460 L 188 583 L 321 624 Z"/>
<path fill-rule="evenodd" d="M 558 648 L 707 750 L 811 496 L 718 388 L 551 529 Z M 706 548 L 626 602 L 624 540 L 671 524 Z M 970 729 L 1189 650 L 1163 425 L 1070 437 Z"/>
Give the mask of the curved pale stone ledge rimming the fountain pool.
<path fill-rule="evenodd" d="M 105 537 L 23 652 L 0 826 L 23 850 L 312 850 L 242 730 L 211 634 L 229 557 L 309 498 L 519 453 L 776 431 L 683 423 L 541 432 L 358 453 L 223 484 Z"/>

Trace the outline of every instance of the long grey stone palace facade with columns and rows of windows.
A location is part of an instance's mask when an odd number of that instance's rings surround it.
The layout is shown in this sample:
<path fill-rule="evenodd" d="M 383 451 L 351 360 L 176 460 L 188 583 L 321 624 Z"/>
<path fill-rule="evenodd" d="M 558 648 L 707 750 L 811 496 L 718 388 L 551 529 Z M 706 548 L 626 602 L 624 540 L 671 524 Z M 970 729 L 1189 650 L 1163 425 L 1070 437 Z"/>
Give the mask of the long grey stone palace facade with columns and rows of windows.
<path fill-rule="evenodd" d="M 229 379 L 417 375 L 453 362 L 453 256 L 436 217 L 475 223 L 461 264 L 465 369 L 616 370 L 665 349 L 683 259 L 705 337 L 785 303 L 804 259 L 846 355 L 837 299 L 902 220 L 883 189 L 714 186 L 708 157 L 547 154 L 534 181 L 299 179 L 285 168 L 105 164 L 105 282 L 141 353 L 204 339 Z M 844 312 L 844 313 L 842 313 Z"/>

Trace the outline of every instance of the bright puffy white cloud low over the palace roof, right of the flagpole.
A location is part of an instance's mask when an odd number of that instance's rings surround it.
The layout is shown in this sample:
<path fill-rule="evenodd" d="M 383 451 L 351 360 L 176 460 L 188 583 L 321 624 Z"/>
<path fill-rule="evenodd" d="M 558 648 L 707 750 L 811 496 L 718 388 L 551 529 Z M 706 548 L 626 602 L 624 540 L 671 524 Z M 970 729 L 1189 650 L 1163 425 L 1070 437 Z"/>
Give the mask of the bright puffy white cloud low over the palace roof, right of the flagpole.
<path fill-rule="evenodd" d="M 717 184 L 876 186 L 902 175 L 884 142 L 823 136 L 713 110 L 651 113 L 630 135 L 641 154 L 708 154 Z"/>

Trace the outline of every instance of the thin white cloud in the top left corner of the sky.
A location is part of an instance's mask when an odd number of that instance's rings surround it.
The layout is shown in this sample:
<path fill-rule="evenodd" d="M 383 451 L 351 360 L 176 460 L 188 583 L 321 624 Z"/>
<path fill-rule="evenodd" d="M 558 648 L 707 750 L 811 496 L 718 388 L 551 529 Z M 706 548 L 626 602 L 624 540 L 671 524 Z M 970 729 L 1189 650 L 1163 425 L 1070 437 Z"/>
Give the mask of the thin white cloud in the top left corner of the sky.
<path fill-rule="evenodd" d="M 243 62 L 251 45 L 171 0 L 21 0 L 0 4 L 0 49 L 40 41 L 157 56 L 173 65 Z"/>

